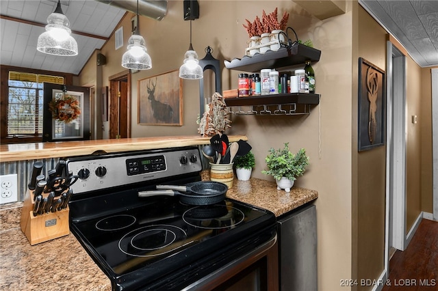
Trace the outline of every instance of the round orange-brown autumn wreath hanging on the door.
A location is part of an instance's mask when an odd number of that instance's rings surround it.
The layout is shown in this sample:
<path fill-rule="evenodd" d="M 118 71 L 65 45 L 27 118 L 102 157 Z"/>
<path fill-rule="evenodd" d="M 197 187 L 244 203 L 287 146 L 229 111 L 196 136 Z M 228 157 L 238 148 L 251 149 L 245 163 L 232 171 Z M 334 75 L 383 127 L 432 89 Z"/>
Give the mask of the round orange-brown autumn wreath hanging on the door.
<path fill-rule="evenodd" d="M 52 99 L 49 108 L 53 119 L 65 123 L 70 123 L 81 115 L 79 101 L 71 95 L 65 95 L 60 99 Z"/>

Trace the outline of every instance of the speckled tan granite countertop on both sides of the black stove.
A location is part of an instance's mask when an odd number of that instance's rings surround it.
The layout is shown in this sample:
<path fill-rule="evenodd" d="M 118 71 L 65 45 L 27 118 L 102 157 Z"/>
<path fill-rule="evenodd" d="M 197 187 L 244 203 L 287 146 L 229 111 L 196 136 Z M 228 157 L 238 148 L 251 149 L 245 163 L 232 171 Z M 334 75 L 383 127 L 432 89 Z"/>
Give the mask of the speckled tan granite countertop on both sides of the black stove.
<path fill-rule="evenodd" d="M 318 192 L 294 187 L 286 193 L 276 190 L 274 182 L 251 178 L 234 180 L 227 197 L 279 217 L 312 202 Z M 0 206 L 0 290 L 111 290 L 110 279 L 73 234 L 31 246 L 20 229 L 22 206 Z"/>

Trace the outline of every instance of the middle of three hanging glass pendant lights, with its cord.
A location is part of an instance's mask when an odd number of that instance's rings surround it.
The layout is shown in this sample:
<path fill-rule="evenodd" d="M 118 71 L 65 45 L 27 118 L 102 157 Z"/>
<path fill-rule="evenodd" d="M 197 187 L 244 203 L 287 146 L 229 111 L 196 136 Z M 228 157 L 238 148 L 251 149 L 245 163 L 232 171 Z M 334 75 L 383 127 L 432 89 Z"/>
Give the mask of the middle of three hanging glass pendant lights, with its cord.
<path fill-rule="evenodd" d="M 137 27 L 128 40 L 128 51 L 123 54 L 122 66 L 131 70 L 148 70 L 152 68 L 152 60 L 146 53 L 146 43 L 138 32 L 138 0 L 137 0 Z"/>

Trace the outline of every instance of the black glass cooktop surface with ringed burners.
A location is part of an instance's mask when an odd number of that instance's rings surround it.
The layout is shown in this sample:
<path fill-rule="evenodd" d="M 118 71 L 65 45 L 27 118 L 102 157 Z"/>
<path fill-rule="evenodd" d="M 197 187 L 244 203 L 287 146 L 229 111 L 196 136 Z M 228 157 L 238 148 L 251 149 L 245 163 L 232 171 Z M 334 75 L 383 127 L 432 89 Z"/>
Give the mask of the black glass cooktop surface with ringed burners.
<path fill-rule="evenodd" d="M 70 221 L 73 234 L 114 281 L 155 279 L 271 228 L 274 214 L 231 199 L 189 206 L 159 197 L 144 206 Z"/>

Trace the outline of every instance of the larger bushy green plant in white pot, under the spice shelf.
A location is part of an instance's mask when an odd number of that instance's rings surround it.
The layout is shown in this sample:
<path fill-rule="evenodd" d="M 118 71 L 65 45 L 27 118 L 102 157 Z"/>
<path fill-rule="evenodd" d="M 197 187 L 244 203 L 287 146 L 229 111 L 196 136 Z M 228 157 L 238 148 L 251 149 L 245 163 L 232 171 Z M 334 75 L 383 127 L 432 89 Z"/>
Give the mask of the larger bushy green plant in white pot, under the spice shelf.
<path fill-rule="evenodd" d="M 261 173 L 274 177 L 278 190 L 285 189 L 286 192 L 290 192 L 296 178 L 302 176 L 309 165 L 306 150 L 301 148 L 296 154 L 292 154 L 289 151 L 289 143 L 285 143 L 283 149 L 271 148 L 269 152 L 265 158 L 268 170 Z"/>

